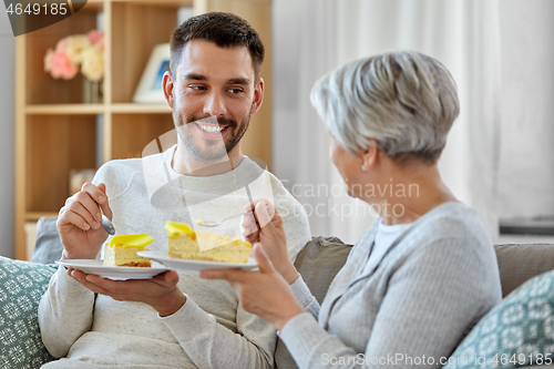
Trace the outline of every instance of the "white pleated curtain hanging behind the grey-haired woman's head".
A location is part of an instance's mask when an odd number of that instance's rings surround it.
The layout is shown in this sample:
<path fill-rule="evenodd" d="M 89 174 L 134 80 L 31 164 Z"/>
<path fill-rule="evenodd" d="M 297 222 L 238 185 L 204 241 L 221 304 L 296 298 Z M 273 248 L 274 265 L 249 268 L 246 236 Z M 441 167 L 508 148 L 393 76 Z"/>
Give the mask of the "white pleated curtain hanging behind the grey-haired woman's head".
<path fill-rule="evenodd" d="M 312 235 L 352 243 L 375 217 L 369 206 L 347 197 L 328 158 L 327 133 L 309 103 L 311 85 L 347 61 L 411 49 L 439 59 L 458 83 L 461 114 L 440 170 L 494 238 L 501 89 L 497 0 L 277 0 L 274 11 L 274 171 L 305 204 Z"/>

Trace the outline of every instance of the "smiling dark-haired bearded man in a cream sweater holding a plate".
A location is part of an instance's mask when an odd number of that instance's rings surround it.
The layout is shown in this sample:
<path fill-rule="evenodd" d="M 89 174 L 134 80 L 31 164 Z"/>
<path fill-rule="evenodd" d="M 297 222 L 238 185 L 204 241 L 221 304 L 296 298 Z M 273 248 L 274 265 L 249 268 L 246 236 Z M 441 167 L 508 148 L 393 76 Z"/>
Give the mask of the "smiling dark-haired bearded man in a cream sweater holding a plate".
<path fill-rule="evenodd" d="M 240 150 L 264 98 L 263 60 L 258 34 L 239 17 L 207 13 L 181 24 L 163 80 L 177 143 L 104 164 L 92 184 L 68 198 L 58 218 L 62 258 L 99 257 L 107 237 L 99 206 L 117 234 L 147 233 L 154 238 L 148 248 L 166 252 L 166 221 L 224 218 L 268 196 L 289 214 L 284 222 L 295 258 L 310 239 L 306 213 Z M 168 186 L 151 192 L 150 181 Z M 217 232 L 239 235 L 239 222 Z M 60 267 L 42 297 L 39 322 L 48 350 L 60 358 L 45 368 L 274 367 L 273 326 L 246 312 L 227 283 L 191 273 L 110 280 Z"/>

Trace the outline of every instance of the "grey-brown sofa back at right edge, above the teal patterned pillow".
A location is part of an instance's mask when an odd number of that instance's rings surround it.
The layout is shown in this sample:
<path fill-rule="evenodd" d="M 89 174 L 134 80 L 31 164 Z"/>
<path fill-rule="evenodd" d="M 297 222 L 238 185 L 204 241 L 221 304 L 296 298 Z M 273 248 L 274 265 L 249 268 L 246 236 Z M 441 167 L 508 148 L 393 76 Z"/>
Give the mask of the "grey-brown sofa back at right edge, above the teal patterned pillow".
<path fill-rule="evenodd" d="M 505 244 L 495 245 L 499 260 L 502 296 L 540 274 L 554 270 L 554 245 Z"/>

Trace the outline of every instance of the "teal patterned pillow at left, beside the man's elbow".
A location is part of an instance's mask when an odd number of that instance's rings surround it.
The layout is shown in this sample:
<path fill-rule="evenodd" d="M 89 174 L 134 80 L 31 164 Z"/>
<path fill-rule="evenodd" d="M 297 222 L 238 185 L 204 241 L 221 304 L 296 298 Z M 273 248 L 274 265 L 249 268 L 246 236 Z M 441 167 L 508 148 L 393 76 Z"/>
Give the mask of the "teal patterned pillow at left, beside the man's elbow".
<path fill-rule="evenodd" d="M 53 265 L 0 256 L 0 368 L 40 368 L 53 360 L 39 330 L 39 301 L 48 288 Z"/>

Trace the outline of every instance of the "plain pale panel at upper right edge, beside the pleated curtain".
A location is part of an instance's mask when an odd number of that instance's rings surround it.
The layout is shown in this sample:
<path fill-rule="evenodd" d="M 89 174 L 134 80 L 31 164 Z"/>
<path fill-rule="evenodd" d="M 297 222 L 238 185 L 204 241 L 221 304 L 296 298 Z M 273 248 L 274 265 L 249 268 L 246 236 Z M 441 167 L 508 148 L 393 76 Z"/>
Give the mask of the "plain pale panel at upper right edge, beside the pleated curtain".
<path fill-rule="evenodd" d="M 554 216 L 554 1 L 502 0 L 500 216 Z M 552 242 L 552 240 L 548 240 Z"/>

